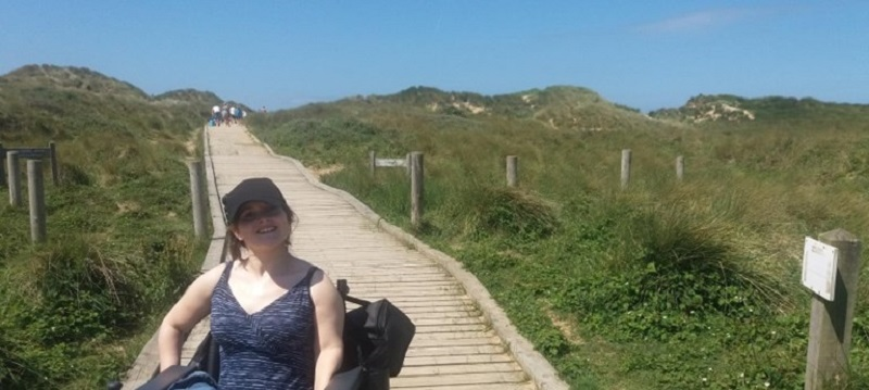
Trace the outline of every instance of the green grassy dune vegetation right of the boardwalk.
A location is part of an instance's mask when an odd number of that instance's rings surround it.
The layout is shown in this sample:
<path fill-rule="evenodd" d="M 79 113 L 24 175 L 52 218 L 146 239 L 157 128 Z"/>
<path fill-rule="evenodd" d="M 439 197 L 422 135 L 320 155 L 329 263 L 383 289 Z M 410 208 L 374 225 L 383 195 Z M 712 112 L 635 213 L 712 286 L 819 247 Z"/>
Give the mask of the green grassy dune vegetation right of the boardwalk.
<path fill-rule="evenodd" d="M 417 87 L 248 123 L 408 230 L 406 176 L 370 178 L 367 151 L 424 152 L 416 235 L 480 278 L 574 388 L 802 389 L 803 239 L 869 230 L 869 108 L 728 105 L 756 119 L 650 118 L 569 87 L 500 97 Z M 633 172 L 621 190 L 626 148 Z M 519 156 L 517 189 L 504 188 L 506 155 Z M 866 302 L 862 282 L 843 389 L 869 387 Z"/>

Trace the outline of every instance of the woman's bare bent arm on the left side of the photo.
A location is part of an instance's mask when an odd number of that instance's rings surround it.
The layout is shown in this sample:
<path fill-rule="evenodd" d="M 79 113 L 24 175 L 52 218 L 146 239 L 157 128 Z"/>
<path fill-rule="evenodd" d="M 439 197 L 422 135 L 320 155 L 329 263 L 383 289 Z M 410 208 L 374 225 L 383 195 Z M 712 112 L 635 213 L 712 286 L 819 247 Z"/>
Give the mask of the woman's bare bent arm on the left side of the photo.
<path fill-rule="evenodd" d="M 158 332 L 161 372 L 180 364 L 181 343 L 186 335 L 211 312 L 211 295 L 223 269 L 223 266 L 216 266 L 200 275 L 163 317 Z"/>

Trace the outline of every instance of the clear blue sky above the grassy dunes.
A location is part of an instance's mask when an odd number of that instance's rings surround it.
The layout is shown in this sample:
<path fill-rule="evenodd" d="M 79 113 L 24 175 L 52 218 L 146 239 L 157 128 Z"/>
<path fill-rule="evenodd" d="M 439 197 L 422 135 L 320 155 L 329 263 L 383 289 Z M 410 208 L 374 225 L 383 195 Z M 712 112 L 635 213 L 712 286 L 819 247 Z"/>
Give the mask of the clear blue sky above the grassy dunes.
<path fill-rule="evenodd" d="M 0 74 L 86 66 L 285 109 L 412 86 L 869 103 L 869 1 L 3 0 Z"/>

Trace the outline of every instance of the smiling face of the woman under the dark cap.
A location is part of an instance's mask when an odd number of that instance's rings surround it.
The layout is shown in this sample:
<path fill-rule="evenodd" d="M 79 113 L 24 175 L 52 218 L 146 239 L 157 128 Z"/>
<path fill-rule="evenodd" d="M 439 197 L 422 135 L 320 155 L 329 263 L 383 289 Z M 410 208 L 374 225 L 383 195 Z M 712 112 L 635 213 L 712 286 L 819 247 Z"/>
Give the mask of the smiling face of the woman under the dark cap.
<path fill-rule="evenodd" d="M 248 202 L 238 213 L 232 232 L 249 250 L 286 246 L 290 222 L 280 206 L 266 202 Z"/>

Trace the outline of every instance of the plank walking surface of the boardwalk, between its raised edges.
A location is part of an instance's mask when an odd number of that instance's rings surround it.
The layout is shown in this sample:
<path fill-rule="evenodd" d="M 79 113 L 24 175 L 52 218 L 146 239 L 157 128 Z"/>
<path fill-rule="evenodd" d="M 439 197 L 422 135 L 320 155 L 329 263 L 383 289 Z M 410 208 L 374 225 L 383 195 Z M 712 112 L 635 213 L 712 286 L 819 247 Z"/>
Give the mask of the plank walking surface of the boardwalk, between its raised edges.
<path fill-rule="evenodd" d="M 351 295 L 387 298 L 414 320 L 416 336 L 401 375 L 391 380 L 393 389 L 534 389 L 478 304 L 439 263 L 379 230 L 344 199 L 312 185 L 294 164 L 269 155 L 243 127 L 206 131 L 209 164 L 216 173 L 212 202 L 244 178 L 272 177 L 300 217 L 291 237 L 293 253 L 332 280 L 348 279 Z M 204 335 L 201 329 L 191 334 L 185 358 Z"/>

